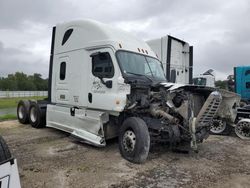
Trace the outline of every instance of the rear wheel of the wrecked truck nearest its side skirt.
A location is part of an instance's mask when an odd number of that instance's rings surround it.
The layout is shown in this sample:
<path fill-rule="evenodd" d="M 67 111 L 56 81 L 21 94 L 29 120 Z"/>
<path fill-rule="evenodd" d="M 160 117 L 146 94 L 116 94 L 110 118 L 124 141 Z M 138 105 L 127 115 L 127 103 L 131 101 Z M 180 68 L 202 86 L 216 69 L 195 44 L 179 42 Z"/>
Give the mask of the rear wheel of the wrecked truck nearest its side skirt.
<path fill-rule="evenodd" d="M 43 128 L 46 124 L 46 104 L 32 102 L 29 108 L 29 122 L 34 128 Z"/>

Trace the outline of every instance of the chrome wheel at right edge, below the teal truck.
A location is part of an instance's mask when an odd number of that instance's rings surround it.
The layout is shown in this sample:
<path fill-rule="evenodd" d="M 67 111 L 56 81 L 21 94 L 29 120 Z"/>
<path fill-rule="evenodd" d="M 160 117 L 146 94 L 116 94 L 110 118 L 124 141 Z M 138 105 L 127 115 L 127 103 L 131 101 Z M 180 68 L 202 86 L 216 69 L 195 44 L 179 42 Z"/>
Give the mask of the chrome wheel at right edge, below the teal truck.
<path fill-rule="evenodd" d="M 250 140 L 250 121 L 244 119 L 239 121 L 235 127 L 235 133 L 241 139 Z"/>

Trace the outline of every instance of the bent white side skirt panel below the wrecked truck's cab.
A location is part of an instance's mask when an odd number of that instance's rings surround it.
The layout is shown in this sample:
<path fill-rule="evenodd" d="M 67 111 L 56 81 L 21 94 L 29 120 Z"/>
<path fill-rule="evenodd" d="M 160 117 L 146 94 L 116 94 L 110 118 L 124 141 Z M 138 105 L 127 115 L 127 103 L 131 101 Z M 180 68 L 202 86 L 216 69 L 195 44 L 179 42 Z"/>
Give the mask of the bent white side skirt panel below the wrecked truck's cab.
<path fill-rule="evenodd" d="M 47 105 L 47 127 L 68 132 L 99 147 L 106 145 L 103 124 L 108 120 L 106 112 L 76 109 L 72 116 L 70 107 Z"/>

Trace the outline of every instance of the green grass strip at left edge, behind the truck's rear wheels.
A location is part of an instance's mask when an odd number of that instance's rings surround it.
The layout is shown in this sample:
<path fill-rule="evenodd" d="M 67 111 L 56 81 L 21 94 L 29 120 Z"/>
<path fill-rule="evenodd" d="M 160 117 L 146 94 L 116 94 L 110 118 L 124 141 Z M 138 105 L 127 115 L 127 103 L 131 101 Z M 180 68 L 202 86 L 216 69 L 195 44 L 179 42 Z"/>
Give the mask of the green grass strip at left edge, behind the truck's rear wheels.
<path fill-rule="evenodd" d="M 21 99 L 43 100 L 46 97 L 15 97 L 15 98 L 1 98 L 0 109 L 17 107 L 17 103 Z"/>

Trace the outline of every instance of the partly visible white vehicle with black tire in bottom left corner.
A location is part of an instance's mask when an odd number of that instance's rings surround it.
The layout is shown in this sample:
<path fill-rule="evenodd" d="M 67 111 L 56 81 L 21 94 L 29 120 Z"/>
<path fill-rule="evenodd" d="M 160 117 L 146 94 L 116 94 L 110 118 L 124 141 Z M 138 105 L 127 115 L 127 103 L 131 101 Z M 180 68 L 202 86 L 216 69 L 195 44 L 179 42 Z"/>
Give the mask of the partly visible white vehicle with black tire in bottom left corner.
<path fill-rule="evenodd" d="M 17 162 L 0 136 L 0 188 L 20 188 Z"/>

